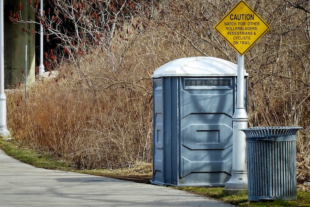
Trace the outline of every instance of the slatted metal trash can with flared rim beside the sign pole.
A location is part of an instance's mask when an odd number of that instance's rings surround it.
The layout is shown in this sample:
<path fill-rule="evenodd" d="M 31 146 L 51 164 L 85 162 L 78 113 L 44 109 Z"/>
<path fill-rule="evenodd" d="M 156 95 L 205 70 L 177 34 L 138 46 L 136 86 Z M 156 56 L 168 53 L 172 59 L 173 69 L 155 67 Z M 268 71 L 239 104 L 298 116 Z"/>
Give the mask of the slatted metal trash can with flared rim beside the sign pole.
<path fill-rule="evenodd" d="M 296 200 L 296 134 L 303 127 L 251 127 L 246 134 L 248 200 Z"/>

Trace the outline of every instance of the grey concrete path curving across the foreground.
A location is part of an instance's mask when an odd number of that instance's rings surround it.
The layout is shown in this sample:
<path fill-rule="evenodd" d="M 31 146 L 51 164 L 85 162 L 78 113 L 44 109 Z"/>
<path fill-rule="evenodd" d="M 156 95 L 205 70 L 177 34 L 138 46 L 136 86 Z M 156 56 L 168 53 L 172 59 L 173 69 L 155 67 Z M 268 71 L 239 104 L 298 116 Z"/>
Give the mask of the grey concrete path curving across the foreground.
<path fill-rule="evenodd" d="M 233 207 L 168 187 L 47 170 L 0 150 L 1 207 Z"/>

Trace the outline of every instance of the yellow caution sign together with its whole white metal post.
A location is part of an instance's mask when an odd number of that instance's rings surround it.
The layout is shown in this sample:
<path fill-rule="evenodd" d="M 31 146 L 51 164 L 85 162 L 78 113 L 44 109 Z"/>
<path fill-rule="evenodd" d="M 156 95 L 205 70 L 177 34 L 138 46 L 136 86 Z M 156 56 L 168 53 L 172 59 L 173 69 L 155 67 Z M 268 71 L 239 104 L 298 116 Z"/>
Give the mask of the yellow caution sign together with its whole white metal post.
<path fill-rule="evenodd" d="M 248 191 L 246 136 L 240 129 L 248 128 L 245 107 L 244 54 L 269 30 L 269 25 L 244 1 L 240 0 L 214 29 L 238 52 L 237 104 L 232 117 L 233 158 L 231 179 L 225 183 L 223 194 L 234 195 Z"/>

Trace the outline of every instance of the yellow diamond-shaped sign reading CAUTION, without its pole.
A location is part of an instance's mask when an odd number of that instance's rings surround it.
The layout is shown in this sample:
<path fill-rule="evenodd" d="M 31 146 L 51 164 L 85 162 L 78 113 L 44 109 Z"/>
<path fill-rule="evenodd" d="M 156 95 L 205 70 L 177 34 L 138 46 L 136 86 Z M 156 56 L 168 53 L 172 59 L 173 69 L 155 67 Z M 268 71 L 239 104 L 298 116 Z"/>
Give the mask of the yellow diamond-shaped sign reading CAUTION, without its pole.
<path fill-rule="evenodd" d="M 244 0 L 240 0 L 214 26 L 214 29 L 240 55 L 248 52 L 269 28 L 269 25 Z"/>

